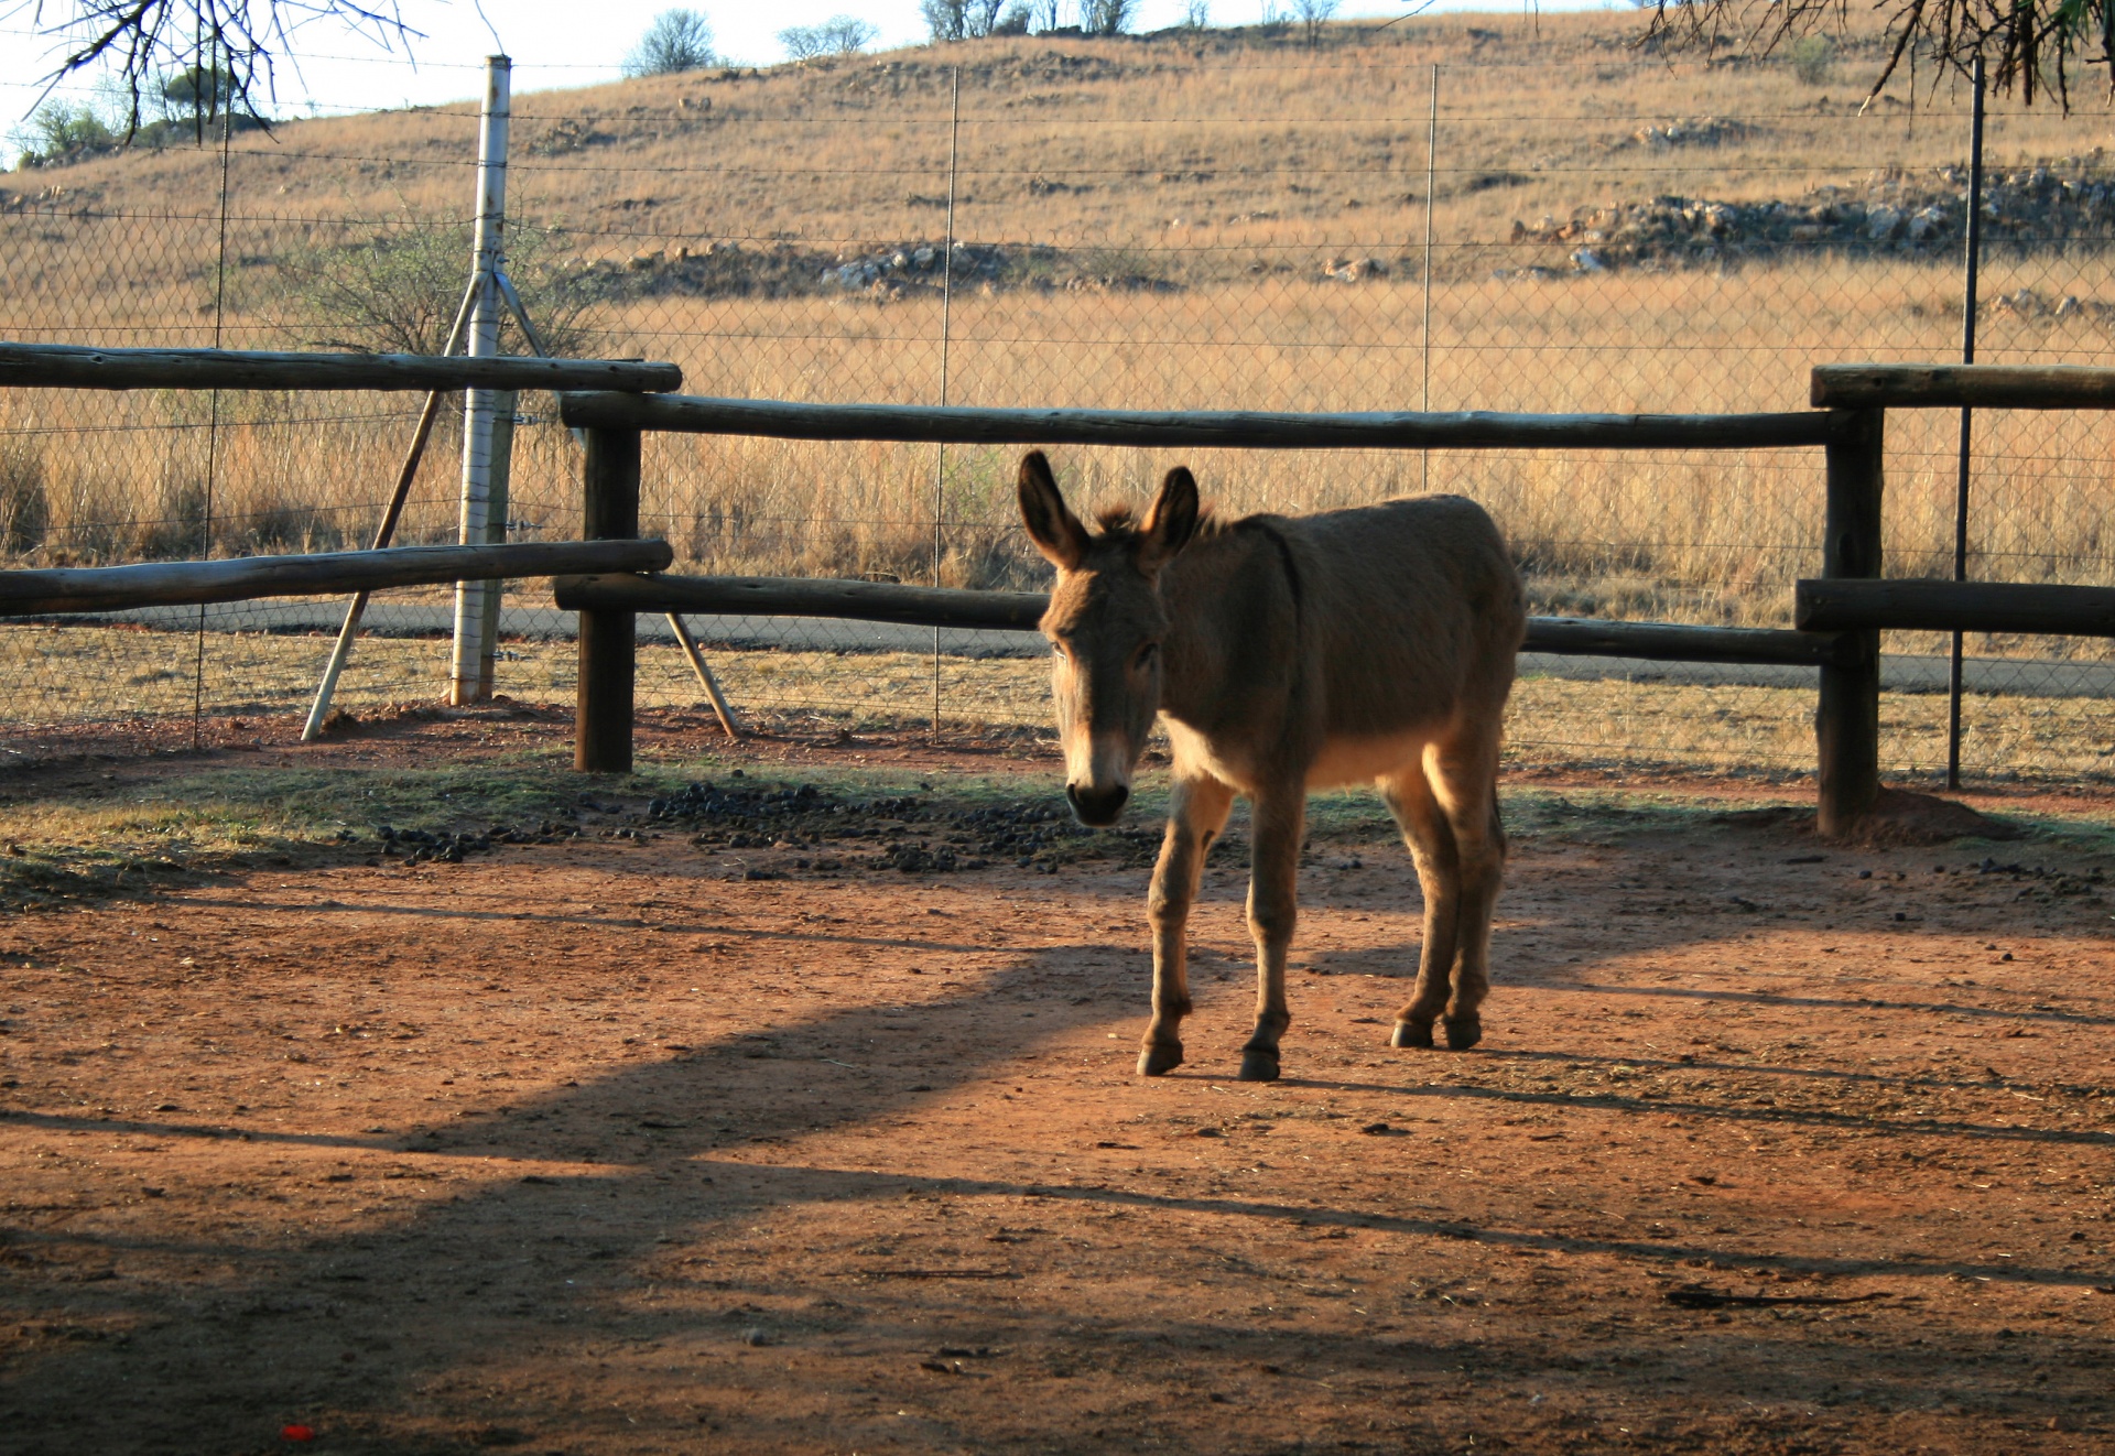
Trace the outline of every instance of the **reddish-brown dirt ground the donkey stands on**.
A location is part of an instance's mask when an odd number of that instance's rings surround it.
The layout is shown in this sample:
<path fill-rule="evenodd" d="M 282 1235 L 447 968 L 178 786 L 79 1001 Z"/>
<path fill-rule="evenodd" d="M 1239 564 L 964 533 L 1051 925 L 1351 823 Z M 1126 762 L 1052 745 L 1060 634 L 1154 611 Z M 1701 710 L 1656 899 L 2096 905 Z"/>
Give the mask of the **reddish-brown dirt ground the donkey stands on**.
<path fill-rule="evenodd" d="M 2115 805 L 1853 852 L 1789 790 L 1643 788 L 1508 784 L 1468 1054 L 1387 1048 L 1415 881 L 1377 818 L 1318 833 L 1271 1086 L 1227 856 L 1163 1080 L 1136 854 L 905 873 L 596 782 L 459 864 L 15 913 L 0 1450 L 2115 1450 Z"/>

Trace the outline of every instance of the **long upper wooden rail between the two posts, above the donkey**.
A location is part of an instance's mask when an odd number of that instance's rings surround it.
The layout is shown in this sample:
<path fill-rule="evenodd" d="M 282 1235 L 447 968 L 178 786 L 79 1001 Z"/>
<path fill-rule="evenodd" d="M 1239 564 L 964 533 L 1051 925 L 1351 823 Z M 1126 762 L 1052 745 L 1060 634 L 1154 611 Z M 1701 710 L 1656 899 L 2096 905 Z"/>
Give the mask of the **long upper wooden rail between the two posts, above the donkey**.
<path fill-rule="evenodd" d="M 1242 410 L 967 410 L 789 404 L 698 395 L 577 393 L 575 429 L 651 429 L 774 440 L 1222 450 L 1751 450 L 1825 446 L 1849 416 L 1794 414 L 1256 414 Z"/>

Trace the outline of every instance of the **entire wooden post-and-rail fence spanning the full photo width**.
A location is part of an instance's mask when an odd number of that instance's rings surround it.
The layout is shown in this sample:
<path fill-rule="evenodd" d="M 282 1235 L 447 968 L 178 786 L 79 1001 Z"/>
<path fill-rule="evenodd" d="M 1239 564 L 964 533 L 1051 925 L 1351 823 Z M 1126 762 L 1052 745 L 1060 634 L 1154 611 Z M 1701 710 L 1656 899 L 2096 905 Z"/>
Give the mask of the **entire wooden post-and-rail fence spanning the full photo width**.
<path fill-rule="evenodd" d="M 341 594 L 389 585 L 552 575 L 580 613 L 575 767 L 632 765 L 635 619 L 641 611 L 831 615 L 1024 630 L 1043 598 L 863 581 L 668 577 L 664 541 L 639 539 L 643 431 L 926 444 L 1089 444 L 1246 450 L 1755 450 L 1821 446 L 1821 577 L 1798 583 L 1796 630 L 1535 617 L 1527 649 L 1673 661 L 1817 666 L 1819 828 L 1842 835 L 1880 790 L 1880 630 L 2115 636 L 2115 590 L 1882 581 L 1889 408 L 2115 408 L 2115 370 L 1823 366 L 1813 412 L 1787 414 L 1258 414 L 967 410 L 702 399 L 670 363 L 421 355 L 288 355 L 220 349 L 80 349 L 0 342 L 0 385 L 25 389 L 550 389 L 584 431 L 582 541 L 391 547 L 290 558 L 0 573 L 0 617 L 176 602 Z"/>

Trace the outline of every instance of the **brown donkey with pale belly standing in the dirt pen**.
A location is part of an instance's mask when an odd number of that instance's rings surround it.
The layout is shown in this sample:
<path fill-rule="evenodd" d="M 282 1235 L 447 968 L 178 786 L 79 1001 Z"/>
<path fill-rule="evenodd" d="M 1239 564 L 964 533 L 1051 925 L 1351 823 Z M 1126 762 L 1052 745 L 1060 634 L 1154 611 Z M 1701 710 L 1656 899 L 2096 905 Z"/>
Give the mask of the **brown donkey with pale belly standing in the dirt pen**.
<path fill-rule="evenodd" d="M 1041 452 L 1022 461 L 1019 494 L 1028 535 L 1058 568 L 1043 634 L 1072 811 L 1117 822 L 1155 714 L 1174 748 L 1146 896 L 1153 1023 L 1138 1071 L 1182 1065 L 1182 932 L 1206 850 L 1248 795 L 1256 1033 L 1242 1080 L 1277 1078 L 1307 792 L 1360 780 L 1402 826 L 1426 896 L 1417 989 L 1394 1044 L 1432 1046 L 1438 1019 L 1447 1046 L 1474 1046 L 1506 858 L 1500 725 L 1527 628 L 1521 577 L 1483 507 L 1428 494 L 1199 524 L 1197 482 L 1178 467 L 1144 520 L 1106 511 L 1089 530 Z"/>

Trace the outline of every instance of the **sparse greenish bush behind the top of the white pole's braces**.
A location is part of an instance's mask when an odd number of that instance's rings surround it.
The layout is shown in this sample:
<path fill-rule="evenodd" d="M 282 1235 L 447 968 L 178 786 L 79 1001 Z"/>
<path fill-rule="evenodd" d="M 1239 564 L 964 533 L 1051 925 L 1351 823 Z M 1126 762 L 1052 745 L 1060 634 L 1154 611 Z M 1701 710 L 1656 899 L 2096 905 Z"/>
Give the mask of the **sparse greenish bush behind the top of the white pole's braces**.
<path fill-rule="evenodd" d="M 305 349 L 440 353 L 470 285 L 470 235 L 465 220 L 406 211 L 364 243 L 283 258 L 292 309 L 281 332 Z M 556 232 L 508 226 L 508 279 L 554 355 L 586 353 L 603 285 L 563 256 Z M 529 353 L 512 319 L 501 323 L 501 351 Z"/>

